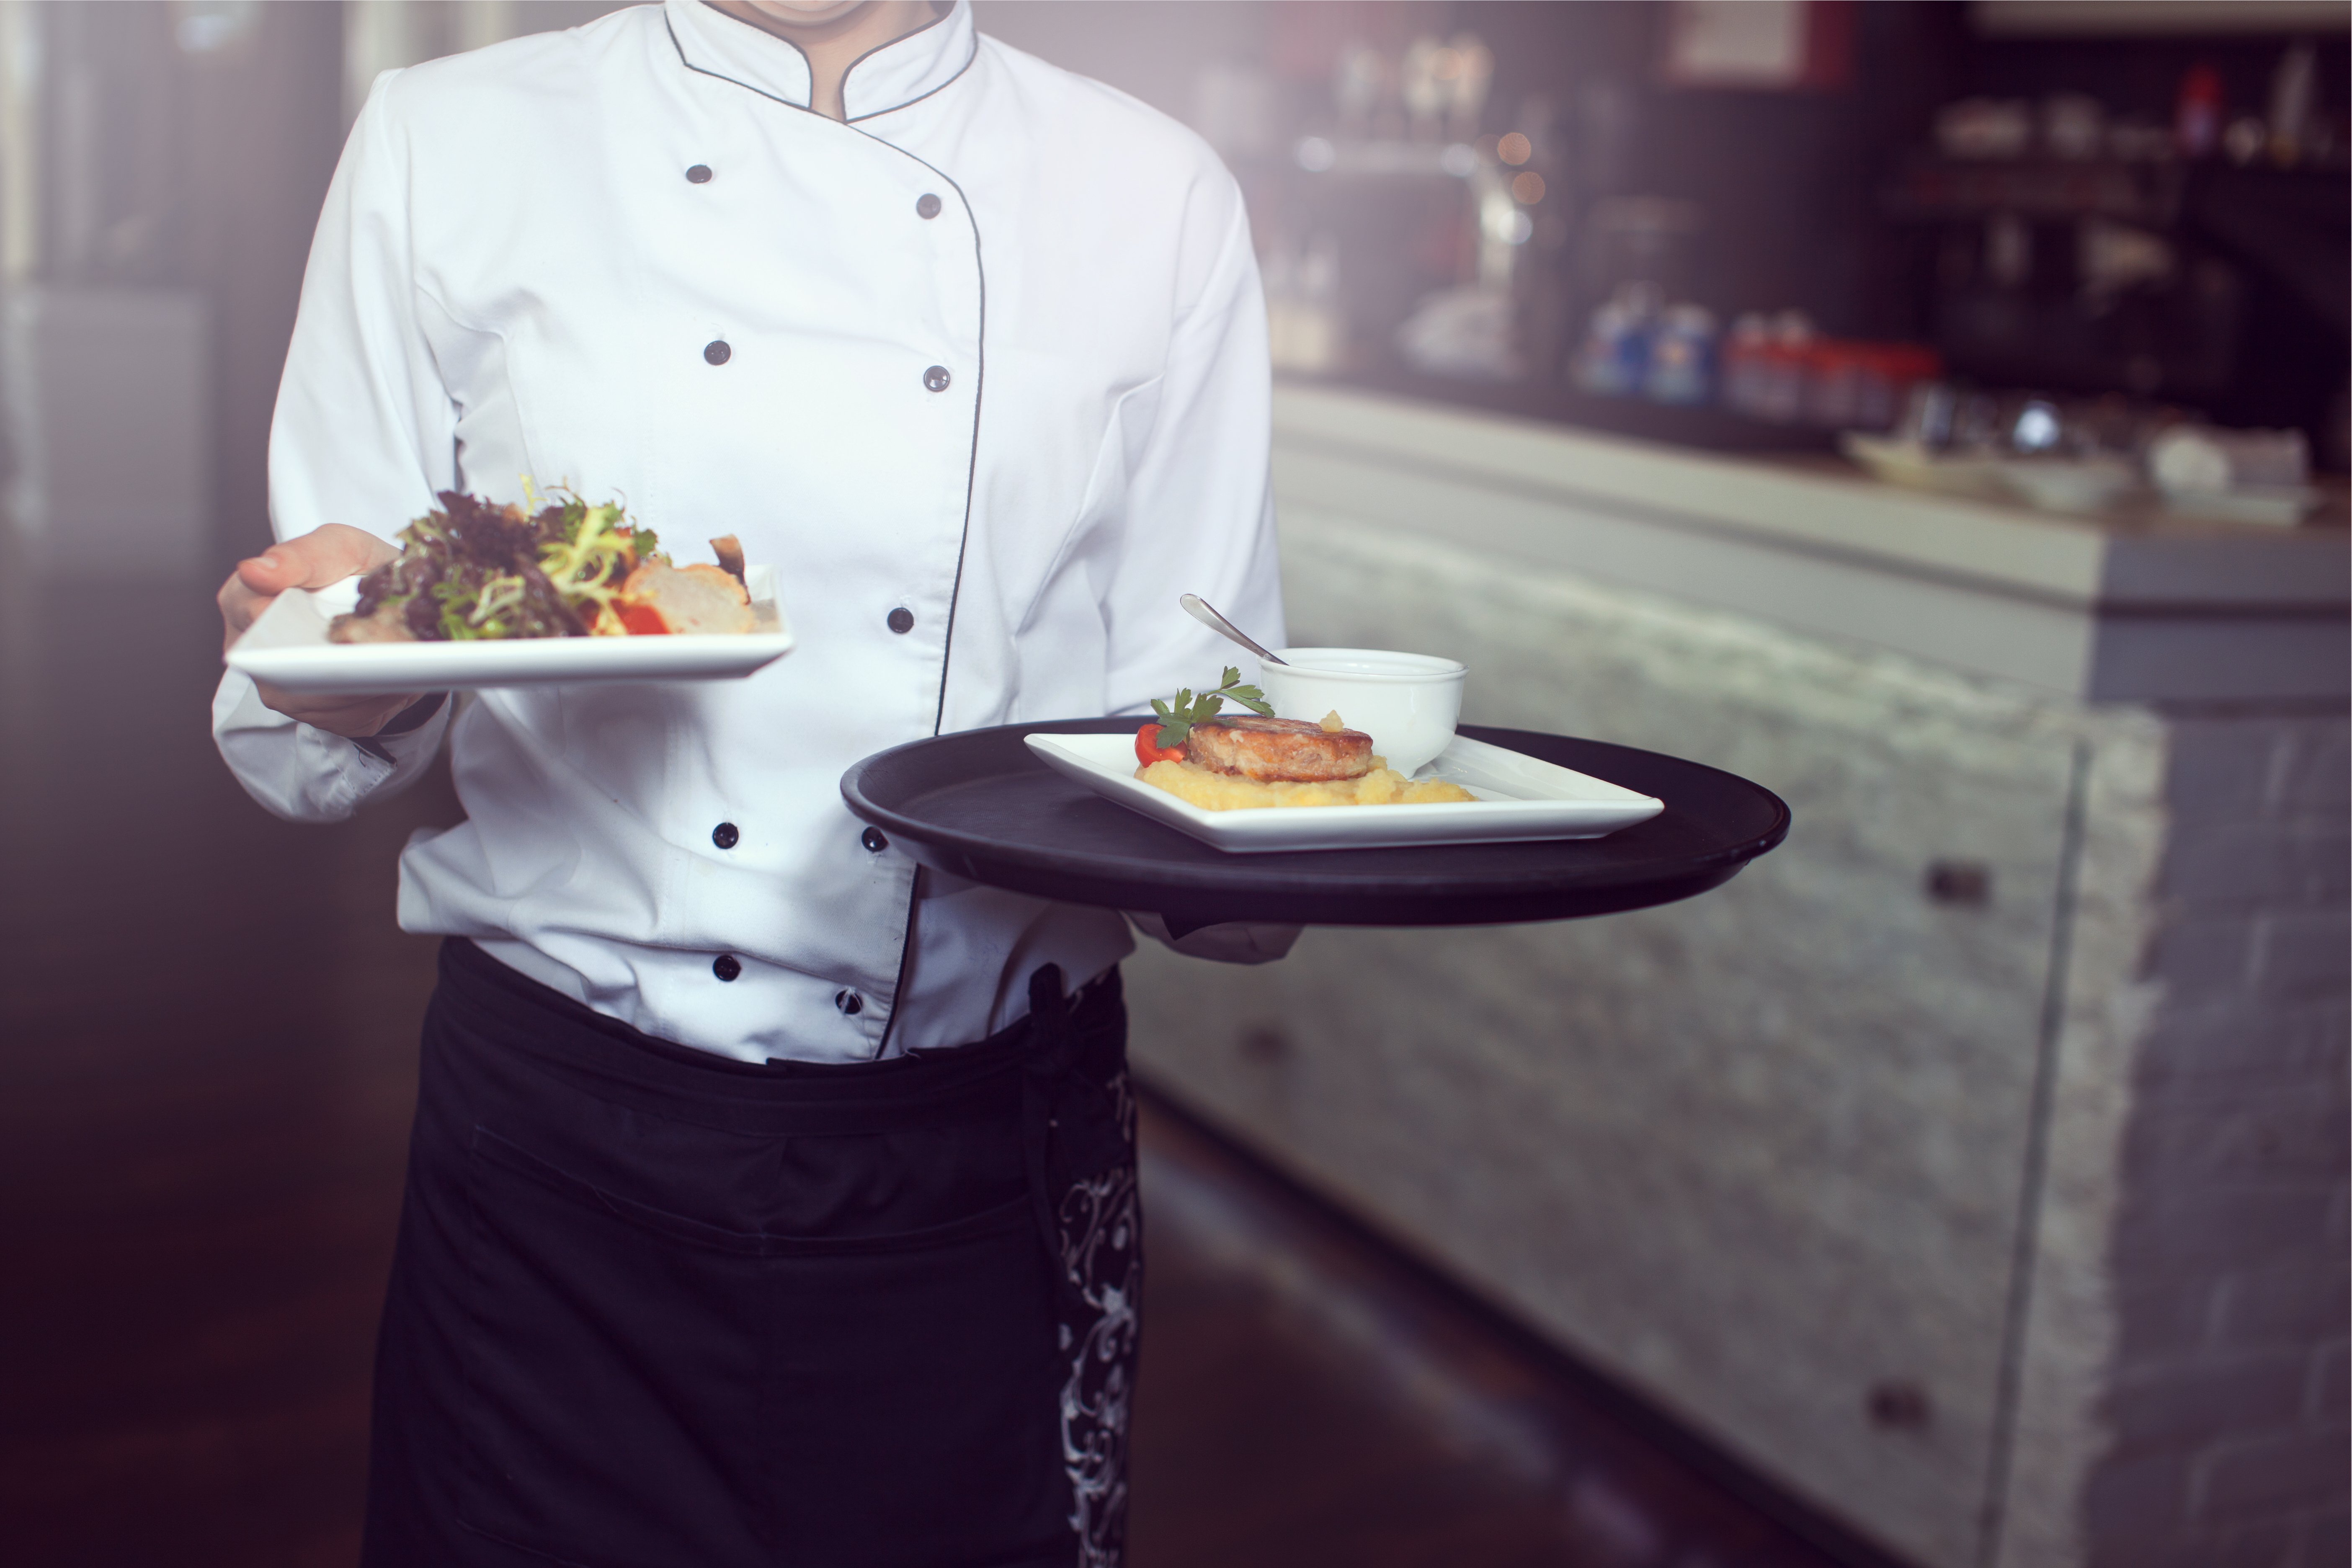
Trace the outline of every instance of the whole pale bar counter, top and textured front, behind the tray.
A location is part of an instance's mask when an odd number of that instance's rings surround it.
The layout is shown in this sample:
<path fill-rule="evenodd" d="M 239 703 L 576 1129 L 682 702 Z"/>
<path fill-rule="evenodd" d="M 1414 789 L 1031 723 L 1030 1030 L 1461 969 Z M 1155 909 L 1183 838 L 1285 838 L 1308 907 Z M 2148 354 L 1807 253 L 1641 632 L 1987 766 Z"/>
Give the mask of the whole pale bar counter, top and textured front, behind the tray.
<path fill-rule="evenodd" d="M 2343 1331 L 2244 1314 L 2340 1222 L 2345 534 L 1329 388 L 1275 428 L 1294 644 L 1461 656 L 1465 719 L 1797 830 L 1665 910 L 1138 954 L 1152 1081 L 1905 1559 L 2157 1561 L 2150 1455 L 2260 1493 Z M 2288 1406 L 2183 1425 L 2249 1354 Z"/>

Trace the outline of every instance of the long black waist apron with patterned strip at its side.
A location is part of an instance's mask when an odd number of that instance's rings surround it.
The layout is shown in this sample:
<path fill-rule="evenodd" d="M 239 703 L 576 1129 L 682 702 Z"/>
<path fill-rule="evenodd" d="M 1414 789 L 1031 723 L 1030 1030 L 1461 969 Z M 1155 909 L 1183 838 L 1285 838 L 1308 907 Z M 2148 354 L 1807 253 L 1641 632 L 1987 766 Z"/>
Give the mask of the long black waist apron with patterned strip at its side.
<path fill-rule="evenodd" d="M 1141 1232 L 1117 971 L 750 1065 L 442 945 L 369 1568 L 1115 1568 Z"/>

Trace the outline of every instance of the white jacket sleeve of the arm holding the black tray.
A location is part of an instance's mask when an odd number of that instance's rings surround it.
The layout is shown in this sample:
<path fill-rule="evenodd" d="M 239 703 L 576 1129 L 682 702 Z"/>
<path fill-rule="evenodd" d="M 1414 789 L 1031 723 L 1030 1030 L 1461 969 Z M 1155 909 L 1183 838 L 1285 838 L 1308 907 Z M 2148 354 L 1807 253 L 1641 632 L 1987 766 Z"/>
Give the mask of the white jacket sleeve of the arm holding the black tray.
<path fill-rule="evenodd" d="M 1103 597 L 1110 712 L 1214 686 L 1249 656 L 1176 609 L 1197 592 L 1270 649 L 1287 642 L 1270 480 L 1272 371 L 1249 214 L 1216 169 L 1195 226 L 1202 284 L 1178 303 L 1152 428 L 1129 468 L 1120 559 Z"/>

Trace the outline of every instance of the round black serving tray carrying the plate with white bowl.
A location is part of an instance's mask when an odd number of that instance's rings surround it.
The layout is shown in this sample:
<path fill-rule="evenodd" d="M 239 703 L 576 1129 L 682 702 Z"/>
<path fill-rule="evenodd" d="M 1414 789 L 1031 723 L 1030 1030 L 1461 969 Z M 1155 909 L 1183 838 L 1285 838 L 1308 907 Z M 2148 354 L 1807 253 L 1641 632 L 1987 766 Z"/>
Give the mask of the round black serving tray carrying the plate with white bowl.
<path fill-rule="evenodd" d="M 1021 736 L 1141 719 L 1004 724 L 915 741 L 842 773 L 842 797 L 917 863 L 988 886 L 1164 914 L 1305 926 L 1498 926 L 1613 914 L 1722 886 L 1788 837 L 1780 797 L 1719 769 L 1604 741 L 1463 724 L 1472 741 L 1653 795 L 1604 839 L 1225 853 L 1054 773 Z"/>

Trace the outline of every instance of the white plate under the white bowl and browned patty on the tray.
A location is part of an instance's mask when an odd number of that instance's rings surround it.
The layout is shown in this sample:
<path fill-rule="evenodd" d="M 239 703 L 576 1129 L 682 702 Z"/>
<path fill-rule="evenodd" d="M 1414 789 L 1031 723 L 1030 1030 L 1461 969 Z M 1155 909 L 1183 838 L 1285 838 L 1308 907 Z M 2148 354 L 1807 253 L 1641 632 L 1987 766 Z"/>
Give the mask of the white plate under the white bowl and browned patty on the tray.
<path fill-rule="evenodd" d="M 1202 811 L 1136 778 L 1134 736 L 1023 736 L 1063 778 L 1131 806 L 1202 844 L 1235 853 L 1291 849 L 1395 849 L 1404 844 L 1510 844 L 1597 839 L 1665 811 L 1665 802 L 1621 790 L 1522 752 L 1454 736 L 1418 776 L 1446 778 L 1477 795 L 1442 806 L 1263 806 Z"/>

